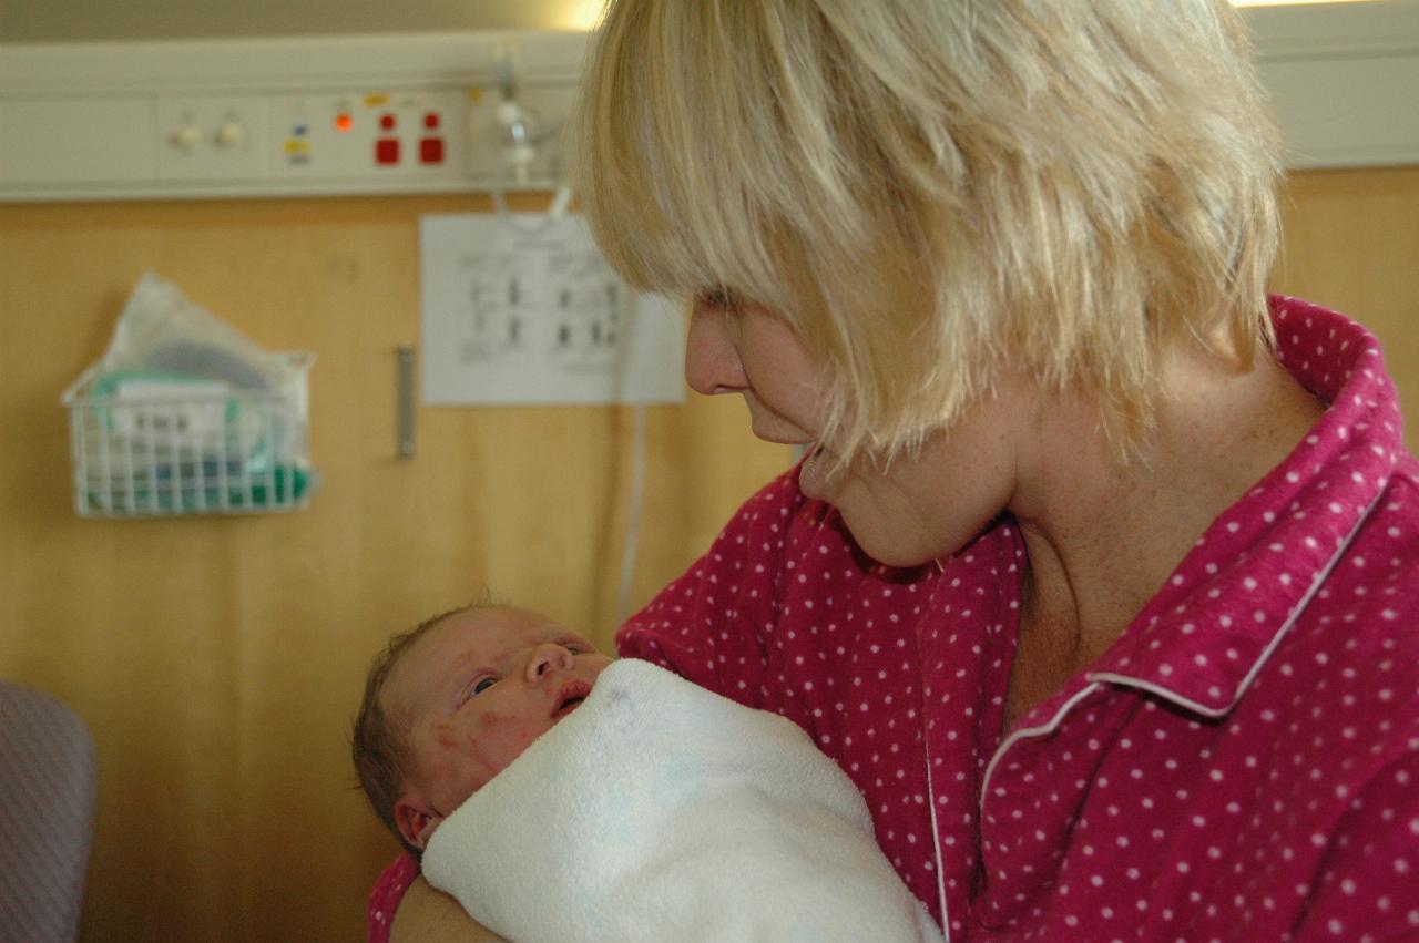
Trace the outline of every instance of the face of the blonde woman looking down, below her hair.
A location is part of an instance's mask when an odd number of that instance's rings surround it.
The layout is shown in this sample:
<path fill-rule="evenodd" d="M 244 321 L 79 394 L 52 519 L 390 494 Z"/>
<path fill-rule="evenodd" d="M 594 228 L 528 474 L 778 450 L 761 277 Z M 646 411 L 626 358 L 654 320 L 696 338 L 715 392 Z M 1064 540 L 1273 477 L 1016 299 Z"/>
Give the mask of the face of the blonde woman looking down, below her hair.
<path fill-rule="evenodd" d="M 995 396 L 911 455 L 888 465 L 861 455 L 843 467 L 833 442 L 819 438 L 827 366 L 782 318 L 714 295 L 694 302 L 685 380 L 707 396 L 744 396 L 759 438 L 813 444 L 816 457 L 799 475 L 803 493 L 837 508 L 858 546 L 893 566 L 954 553 L 1009 503 L 1013 445 L 1032 413 L 1017 394 Z"/>

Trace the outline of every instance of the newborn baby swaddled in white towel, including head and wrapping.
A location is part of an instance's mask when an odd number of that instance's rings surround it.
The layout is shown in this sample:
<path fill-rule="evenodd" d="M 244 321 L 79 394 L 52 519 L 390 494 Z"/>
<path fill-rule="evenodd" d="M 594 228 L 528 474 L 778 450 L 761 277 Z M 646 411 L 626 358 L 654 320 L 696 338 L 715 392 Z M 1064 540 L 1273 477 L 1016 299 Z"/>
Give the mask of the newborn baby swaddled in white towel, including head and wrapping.
<path fill-rule="evenodd" d="M 392 640 L 355 764 L 430 883 L 508 939 L 941 939 L 797 726 L 538 613 Z"/>

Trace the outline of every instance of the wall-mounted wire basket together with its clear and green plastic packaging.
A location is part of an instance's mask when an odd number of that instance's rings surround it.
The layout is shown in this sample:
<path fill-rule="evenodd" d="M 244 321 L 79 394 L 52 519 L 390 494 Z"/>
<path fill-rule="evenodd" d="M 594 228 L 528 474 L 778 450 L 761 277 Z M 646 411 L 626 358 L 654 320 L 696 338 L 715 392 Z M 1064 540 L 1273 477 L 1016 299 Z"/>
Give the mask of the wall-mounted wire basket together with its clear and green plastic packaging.
<path fill-rule="evenodd" d="M 82 516 L 257 513 L 305 506 L 314 356 L 267 353 L 145 275 L 114 343 L 64 393 Z"/>

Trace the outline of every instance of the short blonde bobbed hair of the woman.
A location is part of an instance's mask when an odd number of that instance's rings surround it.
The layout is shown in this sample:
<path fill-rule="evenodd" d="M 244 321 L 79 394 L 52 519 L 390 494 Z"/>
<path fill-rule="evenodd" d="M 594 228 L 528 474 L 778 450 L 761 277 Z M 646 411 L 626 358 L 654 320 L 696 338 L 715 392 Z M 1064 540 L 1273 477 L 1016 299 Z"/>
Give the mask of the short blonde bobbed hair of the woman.
<path fill-rule="evenodd" d="M 1279 140 L 1226 0 L 616 0 L 573 145 L 612 265 L 785 318 L 846 457 L 1006 366 L 1127 451 L 1171 342 L 1270 340 Z"/>

